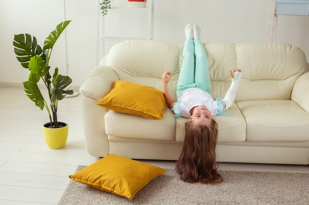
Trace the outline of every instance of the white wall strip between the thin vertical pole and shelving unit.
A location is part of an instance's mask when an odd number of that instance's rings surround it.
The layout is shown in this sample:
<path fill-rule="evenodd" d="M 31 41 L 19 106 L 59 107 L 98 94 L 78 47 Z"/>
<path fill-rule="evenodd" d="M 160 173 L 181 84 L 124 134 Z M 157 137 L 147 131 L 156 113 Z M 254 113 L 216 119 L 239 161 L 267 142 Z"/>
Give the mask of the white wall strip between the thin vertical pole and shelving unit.
<path fill-rule="evenodd" d="M 73 86 L 81 86 L 91 70 L 97 66 L 98 33 L 97 0 L 66 0 L 69 76 Z"/>

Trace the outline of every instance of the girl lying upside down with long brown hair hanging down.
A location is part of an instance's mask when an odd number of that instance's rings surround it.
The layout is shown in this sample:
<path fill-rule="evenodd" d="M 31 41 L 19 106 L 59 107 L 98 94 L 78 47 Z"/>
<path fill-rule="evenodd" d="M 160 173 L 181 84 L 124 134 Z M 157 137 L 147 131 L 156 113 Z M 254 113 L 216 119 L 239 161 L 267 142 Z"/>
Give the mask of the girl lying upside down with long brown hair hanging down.
<path fill-rule="evenodd" d="M 214 101 L 211 96 L 208 60 L 199 39 L 200 29 L 197 25 L 192 27 L 189 24 L 185 28 L 185 34 L 187 39 L 177 82 L 177 102 L 168 88 L 171 72 L 162 74 L 168 107 L 174 111 L 175 117 L 190 119 L 185 123 L 186 136 L 176 171 L 186 182 L 218 183 L 222 181 L 222 176 L 217 172 L 215 151 L 218 124 L 212 116 L 225 114 L 225 110 L 232 106 L 242 73 L 239 69 L 230 71 L 231 87 L 223 99 L 217 98 Z"/>

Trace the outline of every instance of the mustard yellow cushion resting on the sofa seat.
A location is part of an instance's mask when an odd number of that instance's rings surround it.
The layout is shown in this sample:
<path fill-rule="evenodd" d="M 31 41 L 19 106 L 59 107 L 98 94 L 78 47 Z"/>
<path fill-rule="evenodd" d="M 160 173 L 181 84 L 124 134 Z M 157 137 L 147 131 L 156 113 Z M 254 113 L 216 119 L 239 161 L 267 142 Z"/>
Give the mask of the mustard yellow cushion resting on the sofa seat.
<path fill-rule="evenodd" d="M 114 81 L 113 89 L 100 102 L 106 109 L 151 119 L 163 119 L 164 93 L 149 86 L 128 81 Z"/>

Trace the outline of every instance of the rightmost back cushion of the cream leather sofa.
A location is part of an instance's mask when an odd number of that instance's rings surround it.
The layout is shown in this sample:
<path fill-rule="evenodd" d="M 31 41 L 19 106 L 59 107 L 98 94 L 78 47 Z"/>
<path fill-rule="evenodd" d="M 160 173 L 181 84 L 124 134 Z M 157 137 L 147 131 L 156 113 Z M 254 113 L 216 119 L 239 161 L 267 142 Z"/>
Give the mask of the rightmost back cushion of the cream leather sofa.
<path fill-rule="evenodd" d="M 243 72 L 235 102 L 290 100 L 294 84 L 308 71 L 305 53 L 286 43 L 237 43 L 235 50 Z"/>

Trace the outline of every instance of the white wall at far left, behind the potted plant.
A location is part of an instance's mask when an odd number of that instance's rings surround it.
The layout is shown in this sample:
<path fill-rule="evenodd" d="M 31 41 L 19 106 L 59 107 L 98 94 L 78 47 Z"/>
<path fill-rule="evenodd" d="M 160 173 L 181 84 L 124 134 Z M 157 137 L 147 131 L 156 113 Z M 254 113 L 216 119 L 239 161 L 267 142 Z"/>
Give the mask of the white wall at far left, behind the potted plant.
<path fill-rule="evenodd" d="M 36 36 L 42 47 L 45 38 L 64 19 L 63 0 L 0 0 L 0 82 L 21 83 L 29 71 L 17 61 L 14 34 Z M 51 69 L 65 69 L 65 38 L 61 36 L 53 48 Z M 52 71 L 53 73 L 53 71 Z"/>

